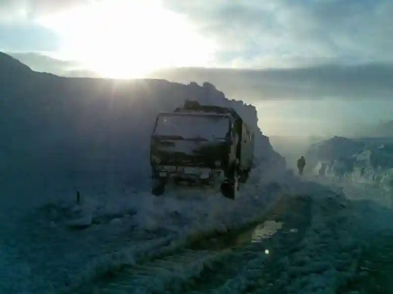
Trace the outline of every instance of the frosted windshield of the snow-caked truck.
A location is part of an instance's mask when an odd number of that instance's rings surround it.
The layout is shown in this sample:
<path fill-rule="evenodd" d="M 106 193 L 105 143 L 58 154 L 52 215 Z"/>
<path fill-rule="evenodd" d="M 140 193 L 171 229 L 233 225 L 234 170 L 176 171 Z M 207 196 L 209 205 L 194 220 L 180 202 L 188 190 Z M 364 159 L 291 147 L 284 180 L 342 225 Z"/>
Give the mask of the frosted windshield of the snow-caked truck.
<path fill-rule="evenodd" d="M 229 118 L 225 116 L 160 115 L 154 133 L 179 136 L 182 139 L 223 139 L 229 132 Z"/>

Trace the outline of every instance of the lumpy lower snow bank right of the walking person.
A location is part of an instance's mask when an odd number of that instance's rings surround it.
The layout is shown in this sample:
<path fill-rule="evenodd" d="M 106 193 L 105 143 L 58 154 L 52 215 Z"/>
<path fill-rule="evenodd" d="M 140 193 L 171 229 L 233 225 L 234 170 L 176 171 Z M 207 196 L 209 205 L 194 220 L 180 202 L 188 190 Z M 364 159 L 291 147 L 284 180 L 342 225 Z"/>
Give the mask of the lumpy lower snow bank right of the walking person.
<path fill-rule="evenodd" d="M 336 136 L 312 145 L 307 157 L 309 169 L 319 175 L 393 187 L 392 143 Z"/>

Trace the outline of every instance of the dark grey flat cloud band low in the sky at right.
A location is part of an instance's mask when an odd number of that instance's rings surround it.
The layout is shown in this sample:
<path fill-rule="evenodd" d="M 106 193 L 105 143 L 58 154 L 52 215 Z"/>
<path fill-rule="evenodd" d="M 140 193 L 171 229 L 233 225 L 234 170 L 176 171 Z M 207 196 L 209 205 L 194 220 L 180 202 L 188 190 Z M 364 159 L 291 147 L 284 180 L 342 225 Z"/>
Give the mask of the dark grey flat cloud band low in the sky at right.
<path fill-rule="evenodd" d="M 393 64 L 276 70 L 182 68 L 158 71 L 149 77 L 182 83 L 209 81 L 227 97 L 249 102 L 393 99 Z"/>

